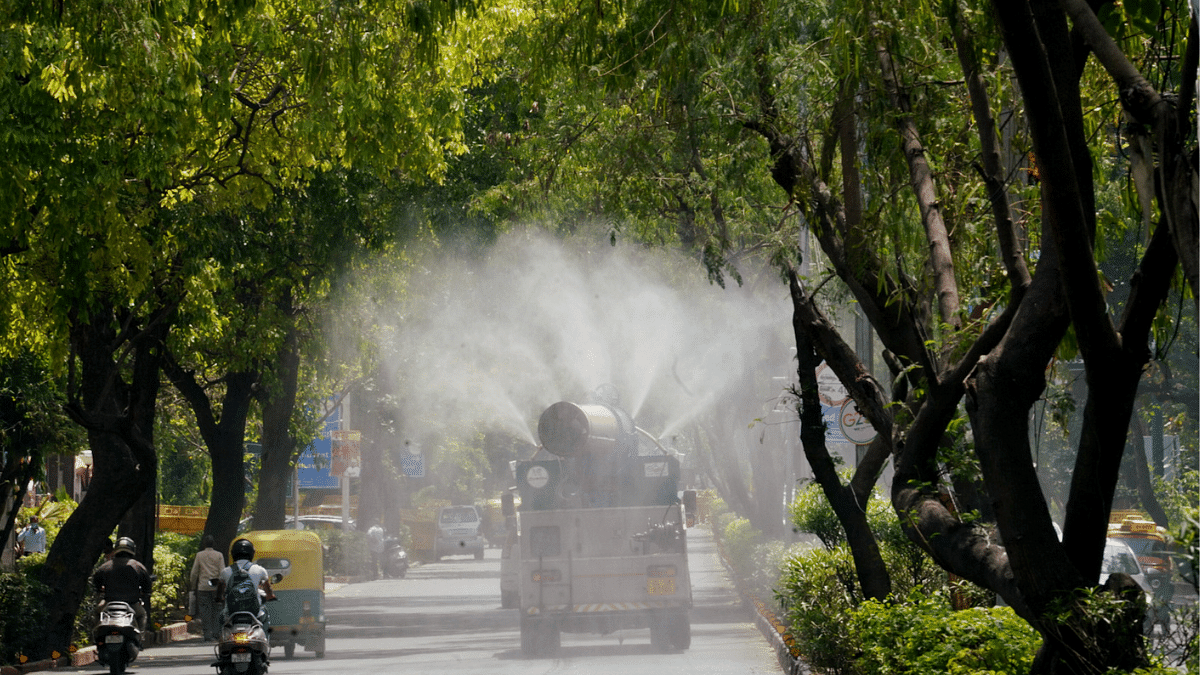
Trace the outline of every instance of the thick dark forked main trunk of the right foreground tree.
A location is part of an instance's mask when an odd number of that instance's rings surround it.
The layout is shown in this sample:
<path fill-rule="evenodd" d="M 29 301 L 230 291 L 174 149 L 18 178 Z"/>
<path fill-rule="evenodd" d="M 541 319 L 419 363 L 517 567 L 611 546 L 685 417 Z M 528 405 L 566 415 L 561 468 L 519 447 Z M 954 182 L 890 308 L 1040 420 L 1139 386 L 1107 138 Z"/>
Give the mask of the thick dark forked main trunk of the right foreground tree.
<path fill-rule="evenodd" d="M 1176 258 L 1166 243 L 1168 228 L 1160 226 L 1134 277 L 1117 330 L 1092 257 L 1091 162 L 1082 138 L 1079 73 L 1064 49 L 1069 44 L 1066 17 L 1058 6 L 1012 2 L 996 7 L 1025 92 L 1042 174 L 1043 256 L 1033 288 L 1022 301 L 1022 310 L 1028 311 L 1019 313 L 1006 340 L 977 366 L 967 407 L 985 480 L 998 486 L 994 495 L 1008 496 L 1001 498 L 996 514 L 1013 574 L 1033 615 L 1031 622 L 1045 637 L 1033 671 L 1128 669 L 1146 663 L 1140 623 L 1114 631 L 1116 625 L 1098 622 L 1086 613 L 1073 614 L 1064 623 L 1052 613 L 1055 603 L 1094 584 L 1099 574 L 1133 400 L 1148 357 L 1150 323 L 1165 297 L 1169 281 L 1164 276 L 1174 273 Z M 1076 17 L 1076 28 L 1080 24 Z M 1040 498 L 1024 423 L 1044 387 L 1043 369 L 1061 340 L 1057 329 L 1045 328 L 1061 324 L 1056 317 L 1063 312 L 1048 309 L 1063 304 L 1084 357 L 1088 395 L 1060 544 Z"/>

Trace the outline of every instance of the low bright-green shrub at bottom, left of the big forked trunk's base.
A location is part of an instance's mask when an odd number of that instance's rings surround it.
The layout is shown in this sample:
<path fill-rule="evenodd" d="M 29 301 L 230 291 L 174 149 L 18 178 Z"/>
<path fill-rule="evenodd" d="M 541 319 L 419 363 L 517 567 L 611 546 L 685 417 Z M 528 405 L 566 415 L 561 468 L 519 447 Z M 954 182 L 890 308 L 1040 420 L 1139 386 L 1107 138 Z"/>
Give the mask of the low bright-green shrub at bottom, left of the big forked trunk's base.
<path fill-rule="evenodd" d="M 866 601 L 847 619 L 862 675 L 1016 675 L 1028 673 L 1042 644 L 1012 608 L 955 611 L 942 593 Z"/>

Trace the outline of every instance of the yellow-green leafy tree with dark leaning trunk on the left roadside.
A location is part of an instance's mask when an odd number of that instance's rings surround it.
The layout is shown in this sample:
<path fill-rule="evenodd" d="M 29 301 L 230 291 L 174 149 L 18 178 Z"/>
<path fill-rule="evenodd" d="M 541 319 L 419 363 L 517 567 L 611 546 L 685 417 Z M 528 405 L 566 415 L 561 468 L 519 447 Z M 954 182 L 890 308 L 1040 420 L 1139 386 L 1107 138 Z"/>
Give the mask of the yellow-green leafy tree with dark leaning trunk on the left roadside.
<path fill-rule="evenodd" d="M 12 339 L 0 348 L 71 352 L 67 410 L 95 456 L 92 490 L 43 568 L 62 591 L 47 650 L 68 643 L 89 561 L 136 502 L 125 532 L 150 558 L 162 348 L 178 312 L 202 304 L 206 275 L 230 271 L 208 256 L 250 244 L 223 229 L 228 221 L 205 219 L 262 210 L 335 167 L 438 175 L 461 149 L 461 92 L 481 76 L 475 56 L 498 47 L 504 16 L 476 7 L 473 24 L 455 28 L 461 8 L 0 10 L 0 101 L 6 129 L 20 130 L 0 138 L 10 186 L 0 251 L 12 270 L 0 307 Z M 274 234 L 263 244 L 287 232 Z M 272 299 L 288 299 L 281 293 Z"/>

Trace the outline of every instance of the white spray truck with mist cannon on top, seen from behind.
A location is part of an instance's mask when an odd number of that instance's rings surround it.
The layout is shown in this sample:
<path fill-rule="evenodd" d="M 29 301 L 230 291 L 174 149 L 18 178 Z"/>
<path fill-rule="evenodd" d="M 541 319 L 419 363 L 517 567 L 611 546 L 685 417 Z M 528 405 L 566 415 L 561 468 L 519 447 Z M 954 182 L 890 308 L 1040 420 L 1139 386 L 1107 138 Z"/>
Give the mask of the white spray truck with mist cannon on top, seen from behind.
<path fill-rule="evenodd" d="M 562 633 L 649 628 L 660 651 L 691 645 L 691 579 L 679 459 L 616 404 L 557 402 L 538 422 L 541 447 L 515 467 L 510 567 L 521 651 L 553 652 Z"/>

